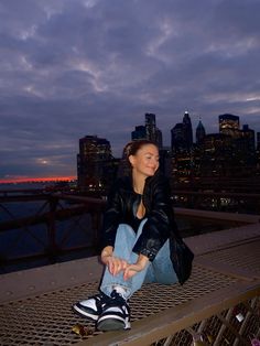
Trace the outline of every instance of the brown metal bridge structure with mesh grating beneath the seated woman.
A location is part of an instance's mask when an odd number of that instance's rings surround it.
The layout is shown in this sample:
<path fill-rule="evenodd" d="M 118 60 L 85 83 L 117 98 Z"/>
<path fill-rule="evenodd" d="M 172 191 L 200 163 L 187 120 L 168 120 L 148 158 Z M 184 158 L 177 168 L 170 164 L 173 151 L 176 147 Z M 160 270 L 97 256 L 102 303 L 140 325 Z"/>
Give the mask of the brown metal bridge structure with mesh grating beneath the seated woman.
<path fill-rule="evenodd" d="M 85 204 L 97 227 L 104 203 L 90 198 Z M 98 291 L 102 266 L 91 256 L 2 273 L 0 345 L 257 345 L 260 216 L 196 209 L 175 214 L 220 229 L 185 238 L 195 259 L 184 285 L 147 284 L 131 298 L 130 331 L 98 332 L 72 311 L 75 301 Z M 41 217 L 44 221 L 50 215 Z"/>

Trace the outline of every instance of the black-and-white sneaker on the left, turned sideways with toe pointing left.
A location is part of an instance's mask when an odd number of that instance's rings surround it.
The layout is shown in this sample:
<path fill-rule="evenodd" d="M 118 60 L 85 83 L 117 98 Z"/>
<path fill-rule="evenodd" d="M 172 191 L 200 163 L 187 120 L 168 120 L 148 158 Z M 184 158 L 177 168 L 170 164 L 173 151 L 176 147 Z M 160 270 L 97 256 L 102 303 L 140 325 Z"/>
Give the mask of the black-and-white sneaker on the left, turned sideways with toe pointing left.
<path fill-rule="evenodd" d="M 109 296 L 105 295 L 104 293 L 99 293 L 89 296 L 87 300 L 77 302 L 73 305 L 73 310 L 83 317 L 97 321 L 108 300 L 110 300 Z"/>

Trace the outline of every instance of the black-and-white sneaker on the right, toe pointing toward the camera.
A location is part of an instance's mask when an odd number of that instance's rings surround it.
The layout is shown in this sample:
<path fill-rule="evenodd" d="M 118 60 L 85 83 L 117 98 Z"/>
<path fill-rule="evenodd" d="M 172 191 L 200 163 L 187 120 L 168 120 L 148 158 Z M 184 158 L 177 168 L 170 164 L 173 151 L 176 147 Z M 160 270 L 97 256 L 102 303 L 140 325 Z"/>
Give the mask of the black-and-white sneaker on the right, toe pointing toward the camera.
<path fill-rule="evenodd" d="M 130 328 L 130 307 L 118 292 L 112 291 L 111 299 L 105 304 L 97 320 L 97 329 L 106 332 Z"/>

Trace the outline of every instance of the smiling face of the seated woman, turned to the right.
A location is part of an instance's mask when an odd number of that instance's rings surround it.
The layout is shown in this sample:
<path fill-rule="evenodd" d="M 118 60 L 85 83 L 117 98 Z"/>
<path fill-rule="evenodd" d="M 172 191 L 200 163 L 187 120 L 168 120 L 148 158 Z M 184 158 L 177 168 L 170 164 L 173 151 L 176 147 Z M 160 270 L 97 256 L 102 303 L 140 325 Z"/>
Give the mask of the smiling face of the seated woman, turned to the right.
<path fill-rule="evenodd" d="M 142 145 L 134 155 L 129 156 L 134 173 L 145 177 L 154 175 L 159 169 L 159 151 L 153 144 Z"/>

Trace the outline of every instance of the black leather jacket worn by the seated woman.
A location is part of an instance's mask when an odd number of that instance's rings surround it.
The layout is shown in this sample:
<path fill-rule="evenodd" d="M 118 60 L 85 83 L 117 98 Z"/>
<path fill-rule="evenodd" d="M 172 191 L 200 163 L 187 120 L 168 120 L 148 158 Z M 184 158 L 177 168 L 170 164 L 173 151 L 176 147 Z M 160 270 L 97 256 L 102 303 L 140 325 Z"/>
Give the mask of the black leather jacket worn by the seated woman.
<path fill-rule="evenodd" d="M 133 191 L 131 177 L 117 180 L 104 215 L 102 247 L 113 247 L 119 224 L 133 225 L 134 213 L 142 198 L 147 223 L 133 251 L 152 261 L 170 233 L 177 233 L 170 194 L 169 181 L 159 172 L 145 180 L 142 196 Z"/>

